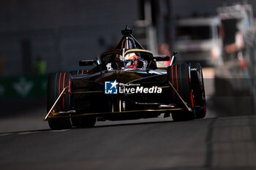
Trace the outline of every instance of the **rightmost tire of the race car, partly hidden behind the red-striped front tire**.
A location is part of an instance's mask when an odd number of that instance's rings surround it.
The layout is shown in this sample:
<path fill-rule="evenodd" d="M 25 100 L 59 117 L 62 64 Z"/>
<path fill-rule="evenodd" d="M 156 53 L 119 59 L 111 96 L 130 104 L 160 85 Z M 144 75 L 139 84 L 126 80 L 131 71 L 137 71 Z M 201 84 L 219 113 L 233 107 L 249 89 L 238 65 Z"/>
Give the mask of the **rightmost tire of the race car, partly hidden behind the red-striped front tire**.
<path fill-rule="evenodd" d="M 206 93 L 203 84 L 203 72 L 200 63 L 189 63 L 191 69 L 192 90 L 195 96 L 195 117 L 197 119 L 206 117 Z"/>

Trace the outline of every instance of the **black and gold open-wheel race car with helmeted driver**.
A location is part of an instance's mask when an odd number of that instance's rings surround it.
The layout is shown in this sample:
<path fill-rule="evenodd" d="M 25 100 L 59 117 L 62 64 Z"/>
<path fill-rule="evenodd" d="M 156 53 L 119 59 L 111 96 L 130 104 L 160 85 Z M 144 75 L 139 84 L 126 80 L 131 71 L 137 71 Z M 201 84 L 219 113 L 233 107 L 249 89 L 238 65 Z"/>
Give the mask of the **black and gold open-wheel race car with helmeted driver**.
<path fill-rule="evenodd" d="M 98 120 L 133 120 L 170 114 L 174 121 L 206 116 L 200 63 L 174 64 L 177 53 L 154 56 L 127 26 L 115 50 L 91 70 L 56 72 L 48 77 L 45 120 L 50 128 L 93 127 Z M 159 64 L 170 61 L 170 66 Z"/>

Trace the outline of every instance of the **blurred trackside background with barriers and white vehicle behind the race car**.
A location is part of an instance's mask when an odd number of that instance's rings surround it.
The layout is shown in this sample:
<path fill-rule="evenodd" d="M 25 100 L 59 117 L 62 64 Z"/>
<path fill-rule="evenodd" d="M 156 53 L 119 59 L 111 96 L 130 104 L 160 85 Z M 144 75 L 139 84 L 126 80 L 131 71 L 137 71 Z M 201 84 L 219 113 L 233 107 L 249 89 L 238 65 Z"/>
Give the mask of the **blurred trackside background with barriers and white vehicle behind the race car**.
<path fill-rule="evenodd" d="M 43 117 L 48 74 L 114 48 L 127 25 L 155 55 L 176 51 L 177 62 L 203 65 L 208 117 L 255 114 L 255 7 L 253 0 L 0 0 L 0 117 Z"/>

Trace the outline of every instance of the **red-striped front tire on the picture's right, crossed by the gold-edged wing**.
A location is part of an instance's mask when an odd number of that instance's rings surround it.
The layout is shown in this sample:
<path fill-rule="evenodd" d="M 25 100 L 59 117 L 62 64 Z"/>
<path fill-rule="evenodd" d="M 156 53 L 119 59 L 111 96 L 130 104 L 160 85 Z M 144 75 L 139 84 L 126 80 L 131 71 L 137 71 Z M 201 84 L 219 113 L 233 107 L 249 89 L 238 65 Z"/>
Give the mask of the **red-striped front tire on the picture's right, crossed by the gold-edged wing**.
<path fill-rule="evenodd" d="M 194 109 L 194 98 L 192 95 L 192 88 L 190 82 L 190 70 L 187 63 L 176 64 L 168 67 L 167 75 L 168 80 L 172 83 L 173 87 L 177 90 L 181 98 L 187 103 L 187 106 L 192 110 Z M 179 101 L 179 104 L 184 108 L 182 111 L 172 112 L 173 121 L 185 121 L 192 120 L 195 115 L 193 112 L 189 112 L 187 107 L 184 106 L 181 99 L 178 98 L 173 90 L 173 98 Z"/>

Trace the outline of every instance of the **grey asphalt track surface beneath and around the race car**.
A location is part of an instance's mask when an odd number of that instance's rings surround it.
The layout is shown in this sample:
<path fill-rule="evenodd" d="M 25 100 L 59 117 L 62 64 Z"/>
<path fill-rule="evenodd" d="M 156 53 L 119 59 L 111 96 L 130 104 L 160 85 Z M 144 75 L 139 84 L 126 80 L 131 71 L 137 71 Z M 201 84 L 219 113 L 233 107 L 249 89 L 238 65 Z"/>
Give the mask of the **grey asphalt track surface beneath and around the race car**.
<path fill-rule="evenodd" d="M 61 131 L 42 122 L 42 102 L 0 104 L 1 170 L 256 169 L 256 115 L 225 116 L 211 98 L 200 120 L 107 121 Z"/>

